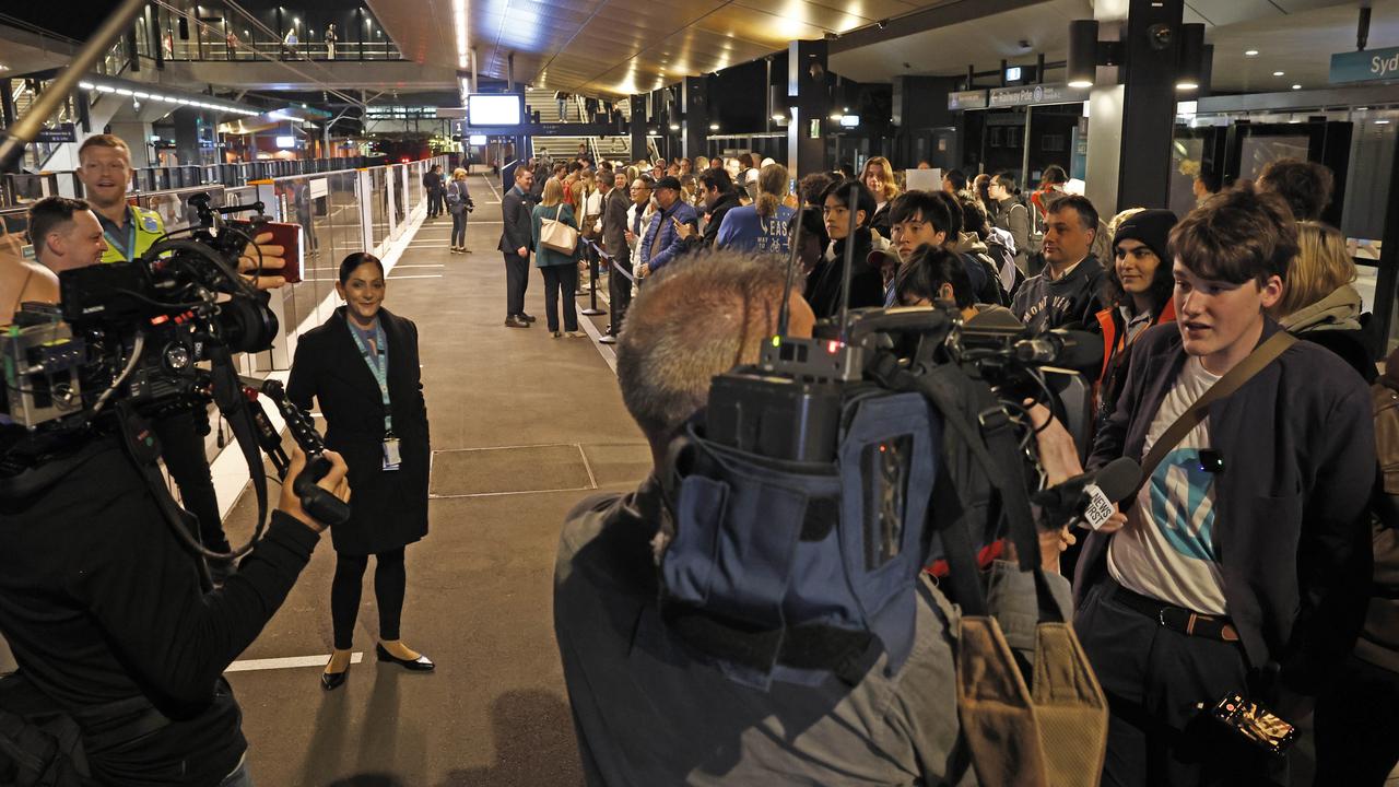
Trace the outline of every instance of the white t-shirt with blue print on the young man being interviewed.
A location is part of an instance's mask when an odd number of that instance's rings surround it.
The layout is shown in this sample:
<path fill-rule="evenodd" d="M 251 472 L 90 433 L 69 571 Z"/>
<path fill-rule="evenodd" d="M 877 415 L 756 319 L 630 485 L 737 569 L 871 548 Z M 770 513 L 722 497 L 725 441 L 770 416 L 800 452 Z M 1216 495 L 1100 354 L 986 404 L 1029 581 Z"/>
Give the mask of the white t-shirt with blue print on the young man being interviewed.
<path fill-rule="evenodd" d="M 1196 399 L 1219 381 L 1195 356 L 1151 420 L 1143 455 Z M 1157 465 L 1128 511 L 1128 524 L 1108 542 L 1108 571 L 1128 590 L 1203 612 L 1227 615 L 1224 577 L 1214 550 L 1214 473 L 1203 469 L 1210 448 L 1206 417 Z"/>

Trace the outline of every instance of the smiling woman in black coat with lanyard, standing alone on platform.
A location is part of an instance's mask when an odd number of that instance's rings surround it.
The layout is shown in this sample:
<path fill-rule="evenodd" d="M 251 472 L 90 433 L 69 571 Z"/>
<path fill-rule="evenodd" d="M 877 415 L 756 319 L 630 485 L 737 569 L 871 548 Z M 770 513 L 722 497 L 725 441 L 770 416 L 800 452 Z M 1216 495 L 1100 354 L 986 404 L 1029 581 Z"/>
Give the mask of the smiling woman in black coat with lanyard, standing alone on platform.
<path fill-rule="evenodd" d="M 330 587 L 334 653 L 320 683 L 334 689 L 350 669 L 360 590 L 376 557 L 379 661 L 432 669 L 399 639 L 407 574 L 403 549 L 428 532 L 428 415 L 418 377 L 418 328 L 382 308 L 383 263 L 353 253 L 340 263 L 336 291 L 346 305 L 301 337 L 287 395 L 326 419 L 326 447 L 350 466 L 350 521 L 336 525 L 336 577 Z M 382 385 L 381 385 L 382 381 Z M 385 403 L 388 399 L 388 406 Z M 389 417 L 392 416 L 392 417 Z"/>

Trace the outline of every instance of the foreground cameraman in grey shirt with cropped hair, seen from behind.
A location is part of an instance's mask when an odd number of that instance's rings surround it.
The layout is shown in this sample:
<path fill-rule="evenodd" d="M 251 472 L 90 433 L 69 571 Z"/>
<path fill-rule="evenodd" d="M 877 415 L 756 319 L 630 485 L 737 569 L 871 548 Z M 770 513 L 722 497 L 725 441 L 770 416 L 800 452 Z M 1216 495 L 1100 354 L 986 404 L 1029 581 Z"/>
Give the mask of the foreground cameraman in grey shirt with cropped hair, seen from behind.
<path fill-rule="evenodd" d="M 855 685 L 778 682 L 761 692 L 688 654 L 658 602 L 669 546 L 658 478 L 672 436 L 708 401 L 711 378 L 754 363 L 774 335 L 785 291 L 781 262 L 719 251 L 673 266 L 635 300 L 617 347 L 628 412 L 658 468 L 630 494 L 593 497 L 564 524 L 555 563 L 554 630 L 588 784 L 950 784 L 970 779 L 954 681 L 958 613 L 919 583 L 912 651 L 887 655 Z M 695 298 L 694 293 L 705 293 Z M 790 294 L 793 336 L 814 315 Z M 706 330 L 695 330 L 704 325 Z M 1037 410 L 1051 480 L 1079 472 L 1067 433 Z M 1053 571 L 1060 531 L 1041 538 Z M 1032 574 L 997 562 L 997 612 L 1013 647 L 1034 641 Z M 1048 574 L 1060 612 L 1069 585 Z M 999 592 L 997 590 L 999 588 Z M 999 606 L 997 606 L 999 605 Z M 1014 608 L 1014 609 L 1011 609 Z M 1032 646 L 1031 646 L 1032 647 Z"/>

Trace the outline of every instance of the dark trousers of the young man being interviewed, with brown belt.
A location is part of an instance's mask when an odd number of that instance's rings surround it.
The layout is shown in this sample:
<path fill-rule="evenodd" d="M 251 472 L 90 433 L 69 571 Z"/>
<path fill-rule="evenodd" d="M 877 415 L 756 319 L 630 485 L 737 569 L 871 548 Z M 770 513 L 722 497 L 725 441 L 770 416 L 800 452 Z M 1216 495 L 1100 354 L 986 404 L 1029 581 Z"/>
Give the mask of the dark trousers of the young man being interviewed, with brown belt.
<path fill-rule="evenodd" d="M 1286 784 L 1286 762 L 1269 762 L 1196 710 L 1247 693 L 1244 648 L 1167 629 L 1115 601 L 1119 588 L 1104 577 L 1073 619 L 1111 710 L 1102 786 Z"/>

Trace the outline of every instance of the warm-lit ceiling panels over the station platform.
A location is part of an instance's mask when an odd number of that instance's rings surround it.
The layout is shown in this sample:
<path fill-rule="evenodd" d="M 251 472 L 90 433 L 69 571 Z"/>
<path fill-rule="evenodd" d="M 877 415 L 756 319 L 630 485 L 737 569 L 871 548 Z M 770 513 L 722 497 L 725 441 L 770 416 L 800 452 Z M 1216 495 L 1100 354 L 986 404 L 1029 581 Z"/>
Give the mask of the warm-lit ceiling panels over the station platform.
<path fill-rule="evenodd" d="M 1121 1 L 1121 0 L 1097 0 Z M 1216 91 L 1322 87 L 1329 55 L 1353 50 L 1360 0 L 1186 0 L 1214 43 Z M 1399 45 L 1399 0 L 1370 0 L 1372 48 Z M 590 95 L 627 95 L 785 49 L 832 41 L 831 70 L 859 81 L 957 76 L 968 64 L 1062 60 L 1067 22 L 1094 0 L 466 0 L 481 74 Z M 404 56 L 456 64 L 453 0 L 368 0 Z M 979 17 L 905 32 L 904 20 Z M 877 29 L 886 22 L 883 29 Z M 916 25 L 915 25 L 916 27 Z M 851 41 L 841 34 L 859 31 Z M 869 43 L 853 45 L 853 39 Z M 1025 46 L 1028 45 L 1028 46 Z M 1245 57 L 1256 49 L 1259 56 Z M 1284 77 L 1273 77 L 1273 71 Z M 1286 81 L 1286 84 L 1284 84 Z"/>

